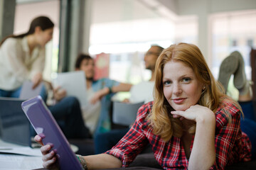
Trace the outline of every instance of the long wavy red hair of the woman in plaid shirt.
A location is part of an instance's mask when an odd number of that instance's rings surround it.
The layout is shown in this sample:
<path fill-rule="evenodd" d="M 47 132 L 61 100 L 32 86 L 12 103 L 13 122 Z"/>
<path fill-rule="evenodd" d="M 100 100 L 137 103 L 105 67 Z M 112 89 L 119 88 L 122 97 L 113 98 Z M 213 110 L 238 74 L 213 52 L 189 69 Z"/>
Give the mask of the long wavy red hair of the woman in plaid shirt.
<path fill-rule="evenodd" d="M 171 111 L 174 111 L 174 109 L 171 108 L 164 96 L 164 86 L 162 81 L 163 70 L 165 64 L 170 61 L 183 62 L 188 67 L 191 67 L 196 74 L 198 81 L 201 81 L 201 83 L 206 86 L 206 89 L 202 92 L 201 98 L 198 101 L 199 105 L 206 106 L 215 113 L 223 100 L 221 97 L 225 96 L 225 98 L 228 98 L 228 100 L 233 102 L 231 98 L 221 91 L 221 85 L 215 81 L 213 74 L 211 74 L 210 69 L 206 64 L 206 60 L 196 45 L 186 43 L 171 45 L 161 52 L 161 55 L 156 61 L 154 104 L 151 113 L 148 116 L 154 134 L 161 135 L 161 139 L 164 141 L 169 141 L 172 136 L 181 137 L 183 135 L 181 120 L 172 117 Z M 230 113 L 225 111 L 225 114 L 230 119 Z M 196 123 L 188 130 L 188 132 L 191 134 L 196 132 Z"/>

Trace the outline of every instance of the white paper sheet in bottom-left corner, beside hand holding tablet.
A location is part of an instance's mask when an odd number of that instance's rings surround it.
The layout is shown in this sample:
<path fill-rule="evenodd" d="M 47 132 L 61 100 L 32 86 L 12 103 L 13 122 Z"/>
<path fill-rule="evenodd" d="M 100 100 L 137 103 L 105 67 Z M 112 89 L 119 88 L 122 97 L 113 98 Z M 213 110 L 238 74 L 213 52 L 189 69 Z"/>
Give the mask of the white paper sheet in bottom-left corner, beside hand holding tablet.
<path fill-rule="evenodd" d="M 26 157 L 15 154 L 0 154 L 0 170 L 23 170 L 43 168 L 41 157 Z"/>

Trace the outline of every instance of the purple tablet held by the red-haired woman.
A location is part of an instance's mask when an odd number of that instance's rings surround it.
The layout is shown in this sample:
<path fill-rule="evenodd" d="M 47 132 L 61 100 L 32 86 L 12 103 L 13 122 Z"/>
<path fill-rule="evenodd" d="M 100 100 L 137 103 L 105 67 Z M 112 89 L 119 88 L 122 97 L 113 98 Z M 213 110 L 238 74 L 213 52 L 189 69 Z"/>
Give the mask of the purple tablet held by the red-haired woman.
<path fill-rule="evenodd" d="M 28 120 L 33 125 L 38 135 L 45 135 L 43 144 L 53 144 L 53 148 L 58 155 L 60 169 L 82 169 L 74 152 L 70 149 L 68 140 L 63 135 L 60 127 L 56 123 L 41 96 L 36 96 L 21 103 Z"/>

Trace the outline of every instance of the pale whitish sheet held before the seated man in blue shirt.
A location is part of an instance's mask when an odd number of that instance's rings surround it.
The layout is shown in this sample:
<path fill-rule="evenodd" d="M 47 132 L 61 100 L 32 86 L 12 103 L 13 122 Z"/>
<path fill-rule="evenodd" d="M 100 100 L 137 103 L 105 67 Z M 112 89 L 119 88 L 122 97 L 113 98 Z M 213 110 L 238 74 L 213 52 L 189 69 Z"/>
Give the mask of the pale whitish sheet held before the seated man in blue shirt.
<path fill-rule="evenodd" d="M 53 79 L 53 86 L 60 86 L 67 91 L 67 96 L 75 96 L 78 98 L 81 106 L 86 105 L 85 72 L 58 73 L 57 78 Z"/>

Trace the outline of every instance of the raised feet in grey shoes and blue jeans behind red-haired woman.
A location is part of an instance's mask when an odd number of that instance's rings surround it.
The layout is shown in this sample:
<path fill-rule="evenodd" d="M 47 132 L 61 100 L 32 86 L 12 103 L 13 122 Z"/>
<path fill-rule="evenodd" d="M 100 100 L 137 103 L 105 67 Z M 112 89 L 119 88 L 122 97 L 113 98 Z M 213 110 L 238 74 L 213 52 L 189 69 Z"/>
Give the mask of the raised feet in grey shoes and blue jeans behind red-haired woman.
<path fill-rule="evenodd" d="M 252 83 L 245 75 L 245 62 L 240 52 L 232 52 L 220 64 L 218 81 L 223 84 L 225 92 L 228 91 L 228 81 L 234 75 L 233 83 L 239 91 L 238 103 L 242 108 L 244 118 L 240 120 L 242 132 L 245 132 L 252 142 L 252 157 L 255 157 L 256 143 L 256 118 L 252 101 Z M 252 128 L 254 127 L 254 128 Z"/>

